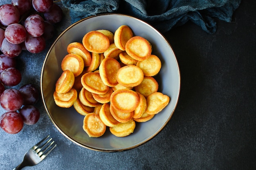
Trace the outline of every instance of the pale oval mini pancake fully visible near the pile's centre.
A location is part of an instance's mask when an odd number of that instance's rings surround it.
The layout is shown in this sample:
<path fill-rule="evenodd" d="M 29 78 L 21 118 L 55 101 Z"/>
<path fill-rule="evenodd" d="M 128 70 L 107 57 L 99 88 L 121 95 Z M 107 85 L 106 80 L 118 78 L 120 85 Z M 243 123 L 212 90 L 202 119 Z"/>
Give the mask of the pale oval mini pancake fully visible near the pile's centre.
<path fill-rule="evenodd" d="M 117 82 L 122 86 L 135 87 L 144 79 L 143 71 L 135 65 L 121 67 L 117 72 Z"/>

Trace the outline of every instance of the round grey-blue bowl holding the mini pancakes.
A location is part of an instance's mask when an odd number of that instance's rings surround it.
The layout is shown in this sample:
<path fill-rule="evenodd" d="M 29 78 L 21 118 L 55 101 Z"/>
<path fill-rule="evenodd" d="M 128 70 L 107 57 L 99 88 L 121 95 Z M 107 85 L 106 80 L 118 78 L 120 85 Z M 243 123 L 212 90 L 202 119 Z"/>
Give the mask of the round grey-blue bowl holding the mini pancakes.
<path fill-rule="evenodd" d="M 61 61 L 67 55 L 67 45 L 82 42 L 89 31 L 107 29 L 115 33 L 121 25 L 128 25 L 135 35 L 146 38 L 153 47 L 152 54 L 157 55 L 162 68 L 155 76 L 159 83 L 159 92 L 168 95 L 171 100 L 153 119 L 136 123 L 134 132 L 127 137 L 116 137 L 107 128 L 98 138 L 88 137 L 83 130 L 83 118 L 73 108 L 56 106 L 53 98 L 55 83 L 60 77 Z M 170 121 L 180 95 L 180 68 L 173 49 L 164 36 L 153 26 L 137 18 L 122 14 L 102 14 L 82 19 L 63 31 L 54 41 L 45 57 L 40 77 L 40 89 L 45 110 L 54 126 L 75 144 L 102 152 L 130 150 L 153 139 Z"/>

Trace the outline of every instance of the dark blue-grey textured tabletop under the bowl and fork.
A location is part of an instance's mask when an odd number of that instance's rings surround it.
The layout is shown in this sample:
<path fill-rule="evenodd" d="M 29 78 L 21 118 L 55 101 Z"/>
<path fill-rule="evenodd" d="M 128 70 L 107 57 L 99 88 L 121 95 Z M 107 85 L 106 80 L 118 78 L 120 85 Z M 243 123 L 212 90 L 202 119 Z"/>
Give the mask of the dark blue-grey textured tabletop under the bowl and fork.
<path fill-rule="evenodd" d="M 82 148 L 56 130 L 39 102 L 38 124 L 16 135 L 0 130 L 0 169 L 14 168 L 25 151 L 50 133 L 57 148 L 24 170 L 255 170 L 255 7 L 256 1 L 242 0 L 233 22 L 218 21 L 213 35 L 192 23 L 164 33 L 180 64 L 182 87 L 172 119 L 148 143 L 114 153 Z M 39 87 L 46 53 L 18 58 L 24 83 Z"/>

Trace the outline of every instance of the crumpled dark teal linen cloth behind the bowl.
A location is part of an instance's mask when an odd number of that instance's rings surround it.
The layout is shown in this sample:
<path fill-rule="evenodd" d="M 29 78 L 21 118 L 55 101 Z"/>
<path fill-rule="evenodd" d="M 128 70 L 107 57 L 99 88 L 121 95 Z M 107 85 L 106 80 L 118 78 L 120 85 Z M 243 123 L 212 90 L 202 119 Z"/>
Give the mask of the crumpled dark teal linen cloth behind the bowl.
<path fill-rule="evenodd" d="M 216 18 L 231 22 L 241 0 L 62 0 L 71 22 L 99 13 L 123 13 L 144 20 L 161 32 L 191 21 L 216 32 Z"/>

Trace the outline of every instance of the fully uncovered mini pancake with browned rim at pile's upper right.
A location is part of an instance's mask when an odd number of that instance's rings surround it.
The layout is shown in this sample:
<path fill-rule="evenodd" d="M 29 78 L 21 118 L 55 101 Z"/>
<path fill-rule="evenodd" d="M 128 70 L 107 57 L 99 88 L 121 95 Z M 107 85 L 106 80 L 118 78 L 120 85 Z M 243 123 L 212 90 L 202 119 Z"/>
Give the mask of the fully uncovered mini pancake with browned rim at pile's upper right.
<path fill-rule="evenodd" d="M 128 55 L 138 61 L 148 59 L 152 51 L 148 40 L 140 36 L 130 38 L 126 43 L 125 49 Z"/>

